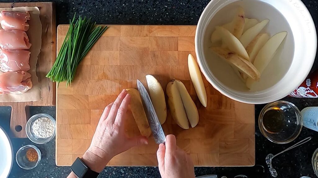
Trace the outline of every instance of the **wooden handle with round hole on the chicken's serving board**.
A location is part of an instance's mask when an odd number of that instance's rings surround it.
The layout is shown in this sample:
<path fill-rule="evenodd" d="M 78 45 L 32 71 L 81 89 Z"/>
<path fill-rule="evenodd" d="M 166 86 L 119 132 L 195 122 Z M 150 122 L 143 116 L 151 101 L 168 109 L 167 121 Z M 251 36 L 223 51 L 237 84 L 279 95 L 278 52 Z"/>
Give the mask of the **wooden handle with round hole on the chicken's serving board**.
<path fill-rule="evenodd" d="M 13 137 L 27 137 L 25 133 L 25 125 L 27 118 L 30 118 L 29 105 L 32 105 L 32 102 L 12 103 L 10 130 Z"/>

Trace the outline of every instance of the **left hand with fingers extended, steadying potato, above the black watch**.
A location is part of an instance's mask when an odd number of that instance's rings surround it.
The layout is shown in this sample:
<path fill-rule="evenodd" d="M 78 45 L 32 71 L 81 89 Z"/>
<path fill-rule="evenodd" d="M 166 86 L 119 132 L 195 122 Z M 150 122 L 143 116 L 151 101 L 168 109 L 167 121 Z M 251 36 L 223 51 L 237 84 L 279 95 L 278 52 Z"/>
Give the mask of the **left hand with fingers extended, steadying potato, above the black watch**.
<path fill-rule="evenodd" d="M 130 96 L 123 90 L 117 99 L 104 109 L 91 145 L 82 157 L 93 171 L 102 171 L 106 164 L 121 152 L 137 145 L 148 144 L 146 137 L 128 138 L 125 135 L 124 120 L 129 103 Z M 88 165 L 89 162 L 92 162 L 92 165 Z"/>

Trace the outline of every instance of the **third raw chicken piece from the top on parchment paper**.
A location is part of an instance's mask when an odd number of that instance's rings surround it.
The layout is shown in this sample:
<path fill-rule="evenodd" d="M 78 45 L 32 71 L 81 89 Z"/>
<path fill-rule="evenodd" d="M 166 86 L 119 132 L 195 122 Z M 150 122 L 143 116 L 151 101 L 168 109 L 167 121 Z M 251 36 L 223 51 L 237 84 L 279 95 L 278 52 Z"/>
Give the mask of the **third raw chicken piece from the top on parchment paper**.
<path fill-rule="evenodd" d="M 3 72 L 17 72 L 30 70 L 30 52 L 25 50 L 0 51 L 0 70 Z"/>

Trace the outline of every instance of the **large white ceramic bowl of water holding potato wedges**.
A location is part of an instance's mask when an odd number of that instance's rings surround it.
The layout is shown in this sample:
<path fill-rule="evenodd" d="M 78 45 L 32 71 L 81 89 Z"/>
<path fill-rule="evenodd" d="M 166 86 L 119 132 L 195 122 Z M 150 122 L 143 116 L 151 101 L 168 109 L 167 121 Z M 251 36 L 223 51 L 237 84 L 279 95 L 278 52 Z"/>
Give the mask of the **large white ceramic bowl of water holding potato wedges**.
<path fill-rule="evenodd" d="M 244 8 L 247 18 L 270 20 L 263 32 L 271 36 L 288 33 L 251 90 L 209 49 L 215 26 L 231 22 L 238 6 Z M 262 104 L 287 96 L 304 81 L 315 60 L 317 36 L 301 0 L 211 0 L 197 25 L 195 49 L 201 71 L 214 88 L 231 99 Z"/>

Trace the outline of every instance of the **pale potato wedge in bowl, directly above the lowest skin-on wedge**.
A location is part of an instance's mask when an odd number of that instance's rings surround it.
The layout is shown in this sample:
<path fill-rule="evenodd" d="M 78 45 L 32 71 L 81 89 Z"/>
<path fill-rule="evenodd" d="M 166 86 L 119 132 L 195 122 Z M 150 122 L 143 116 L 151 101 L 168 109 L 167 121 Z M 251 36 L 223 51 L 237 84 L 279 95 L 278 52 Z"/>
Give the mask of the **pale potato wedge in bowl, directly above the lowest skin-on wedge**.
<path fill-rule="evenodd" d="M 239 54 L 246 60 L 249 60 L 249 56 L 239 39 L 223 27 L 217 26 L 216 29 L 220 31 L 222 43 L 225 43 L 226 46 L 234 53 Z"/>

